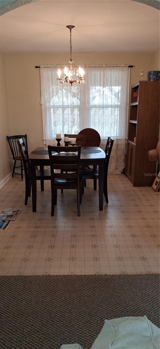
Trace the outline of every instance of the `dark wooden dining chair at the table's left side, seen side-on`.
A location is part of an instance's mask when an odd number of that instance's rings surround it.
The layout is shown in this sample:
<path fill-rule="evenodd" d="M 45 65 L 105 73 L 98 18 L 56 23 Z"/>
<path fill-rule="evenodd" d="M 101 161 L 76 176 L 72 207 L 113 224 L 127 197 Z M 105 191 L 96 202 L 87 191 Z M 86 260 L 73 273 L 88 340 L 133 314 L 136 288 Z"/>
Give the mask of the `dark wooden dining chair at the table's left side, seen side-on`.
<path fill-rule="evenodd" d="M 17 141 L 18 149 L 20 152 L 20 155 L 22 157 L 23 166 L 24 166 L 24 173 L 25 173 L 25 205 L 27 205 L 28 202 L 28 196 L 31 196 L 31 171 L 30 171 L 30 160 L 28 158 L 28 151 L 26 148 L 26 144 L 24 142 L 23 138 L 20 138 Z M 51 179 L 51 172 L 50 170 L 37 170 L 36 169 L 36 180 L 41 181 L 41 191 L 44 190 L 44 180 L 50 180 Z"/>

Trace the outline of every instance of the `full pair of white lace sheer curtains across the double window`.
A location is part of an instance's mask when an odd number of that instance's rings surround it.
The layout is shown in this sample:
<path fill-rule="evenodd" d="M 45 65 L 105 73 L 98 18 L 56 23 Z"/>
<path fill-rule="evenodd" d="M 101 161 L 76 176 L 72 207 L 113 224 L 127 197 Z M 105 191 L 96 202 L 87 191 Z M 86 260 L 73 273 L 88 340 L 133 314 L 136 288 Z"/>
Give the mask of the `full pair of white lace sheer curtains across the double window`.
<path fill-rule="evenodd" d="M 86 67 L 86 84 L 66 88 L 56 84 L 57 68 L 41 67 L 41 104 L 46 144 L 57 144 L 56 133 L 78 133 L 91 127 L 101 136 L 105 148 L 108 136 L 114 139 L 109 171 L 125 167 L 129 69 L 127 67 Z"/>

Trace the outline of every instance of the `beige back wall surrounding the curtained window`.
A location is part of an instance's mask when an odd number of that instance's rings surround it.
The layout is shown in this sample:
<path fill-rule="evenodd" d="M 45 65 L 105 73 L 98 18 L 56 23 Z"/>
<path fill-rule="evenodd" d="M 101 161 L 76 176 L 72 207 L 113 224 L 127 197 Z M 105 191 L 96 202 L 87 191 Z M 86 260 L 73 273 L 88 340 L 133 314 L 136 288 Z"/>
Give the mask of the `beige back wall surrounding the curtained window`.
<path fill-rule="evenodd" d="M 6 53 L 6 74 L 12 134 L 28 136 L 28 151 L 43 146 L 42 110 L 40 105 L 40 71 L 35 65 L 67 64 L 68 54 Z M 144 68 L 144 80 L 151 70 L 151 54 L 73 54 L 77 64 L 130 64 L 130 84 L 140 80 Z"/>

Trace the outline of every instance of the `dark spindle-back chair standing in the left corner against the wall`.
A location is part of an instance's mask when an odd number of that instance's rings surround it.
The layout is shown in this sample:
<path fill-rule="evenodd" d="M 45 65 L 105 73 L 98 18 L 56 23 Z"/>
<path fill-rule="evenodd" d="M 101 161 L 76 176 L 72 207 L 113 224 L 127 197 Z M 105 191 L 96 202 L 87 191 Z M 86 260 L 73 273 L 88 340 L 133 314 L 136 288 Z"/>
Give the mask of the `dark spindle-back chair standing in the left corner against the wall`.
<path fill-rule="evenodd" d="M 20 174 L 18 172 L 15 172 L 15 169 L 21 168 L 21 179 L 23 181 L 23 162 L 22 157 L 20 156 L 19 149 L 17 147 L 17 141 L 18 139 L 23 138 L 25 140 L 25 146 L 28 152 L 28 146 L 27 146 L 27 135 L 16 135 L 16 136 L 7 136 L 7 140 L 9 143 L 9 147 L 12 153 L 12 159 L 15 161 L 12 171 L 12 177 L 14 176 L 14 173 Z M 20 161 L 20 166 L 16 166 L 16 161 Z"/>

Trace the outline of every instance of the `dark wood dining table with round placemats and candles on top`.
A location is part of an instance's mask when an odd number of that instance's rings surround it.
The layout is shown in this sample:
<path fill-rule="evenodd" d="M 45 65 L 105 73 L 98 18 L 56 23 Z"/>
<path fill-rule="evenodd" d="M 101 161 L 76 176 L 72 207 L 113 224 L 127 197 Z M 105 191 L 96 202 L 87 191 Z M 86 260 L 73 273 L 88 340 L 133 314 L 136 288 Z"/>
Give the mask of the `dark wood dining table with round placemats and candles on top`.
<path fill-rule="evenodd" d="M 74 147 L 73 147 L 74 148 Z M 85 153 L 82 153 L 85 149 Z M 36 197 L 37 197 L 37 185 L 36 185 L 36 166 L 49 166 L 48 154 L 34 154 L 37 151 L 46 151 L 47 147 L 39 147 L 31 151 L 29 155 L 31 164 L 31 183 L 32 183 L 32 211 L 36 212 Z M 88 153 L 87 153 L 88 150 Z M 95 150 L 95 153 L 94 153 Z M 74 150 L 73 150 L 74 151 Z M 92 151 L 92 153 L 91 153 Z M 96 153 L 96 151 L 99 151 Z M 54 155 L 53 155 L 54 156 Z M 81 147 L 81 165 L 97 165 L 99 173 L 99 210 L 103 210 L 103 180 L 104 180 L 104 160 L 106 154 L 99 147 Z"/>

